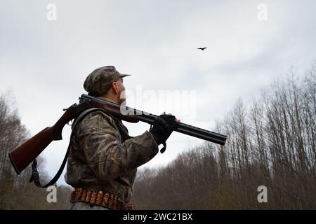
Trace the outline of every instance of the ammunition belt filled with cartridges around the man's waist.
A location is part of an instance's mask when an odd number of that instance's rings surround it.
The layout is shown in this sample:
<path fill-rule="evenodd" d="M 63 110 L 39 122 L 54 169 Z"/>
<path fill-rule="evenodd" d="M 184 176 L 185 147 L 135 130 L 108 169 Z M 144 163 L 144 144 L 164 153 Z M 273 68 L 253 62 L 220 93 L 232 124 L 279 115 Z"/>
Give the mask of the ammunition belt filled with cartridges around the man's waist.
<path fill-rule="evenodd" d="M 131 210 L 132 204 L 128 204 L 121 200 L 121 197 L 111 193 L 104 193 L 102 190 L 98 192 L 92 190 L 83 190 L 76 188 L 70 197 L 70 202 L 86 202 L 98 205 L 112 210 Z"/>

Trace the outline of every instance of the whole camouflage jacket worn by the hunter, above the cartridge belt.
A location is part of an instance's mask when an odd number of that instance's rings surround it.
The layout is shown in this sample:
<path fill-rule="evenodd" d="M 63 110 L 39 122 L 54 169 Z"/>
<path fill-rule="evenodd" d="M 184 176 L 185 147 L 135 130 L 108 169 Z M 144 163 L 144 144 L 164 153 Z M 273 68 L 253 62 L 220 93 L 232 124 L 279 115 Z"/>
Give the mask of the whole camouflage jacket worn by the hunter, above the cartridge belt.
<path fill-rule="evenodd" d="M 131 203 L 137 167 L 150 161 L 158 146 L 150 132 L 128 138 L 118 125 L 127 132 L 121 120 L 104 111 L 79 120 L 72 130 L 65 181 L 74 188 L 103 190 Z"/>

